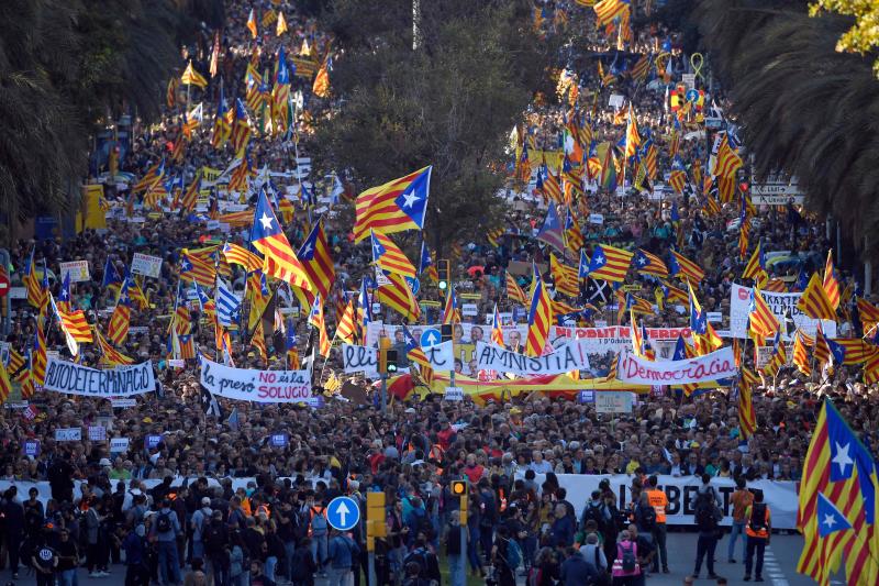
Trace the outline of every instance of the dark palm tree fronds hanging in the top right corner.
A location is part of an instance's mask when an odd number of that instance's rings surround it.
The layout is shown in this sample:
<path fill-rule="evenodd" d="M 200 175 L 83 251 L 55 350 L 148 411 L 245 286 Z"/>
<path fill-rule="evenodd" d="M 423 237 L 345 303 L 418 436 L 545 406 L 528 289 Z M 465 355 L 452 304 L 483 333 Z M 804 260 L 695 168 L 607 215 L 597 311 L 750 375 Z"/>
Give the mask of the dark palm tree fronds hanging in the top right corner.
<path fill-rule="evenodd" d="M 801 1 L 703 0 L 692 18 L 758 176 L 795 175 L 808 207 L 879 257 L 879 81 L 871 57 L 835 51 L 850 19 Z"/>

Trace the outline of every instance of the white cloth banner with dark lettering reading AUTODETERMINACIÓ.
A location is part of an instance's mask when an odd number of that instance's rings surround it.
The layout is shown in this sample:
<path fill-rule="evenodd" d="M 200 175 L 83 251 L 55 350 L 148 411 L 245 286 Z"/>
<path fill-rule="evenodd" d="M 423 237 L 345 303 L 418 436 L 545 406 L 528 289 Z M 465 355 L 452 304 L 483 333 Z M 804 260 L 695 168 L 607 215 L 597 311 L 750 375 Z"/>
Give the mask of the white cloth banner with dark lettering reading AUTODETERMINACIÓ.
<path fill-rule="evenodd" d="M 46 365 L 43 388 L 87 397 L 129 397 L 156 390 L 156 379 L 152 362 L 96 371 L 53 356 Z"/>

